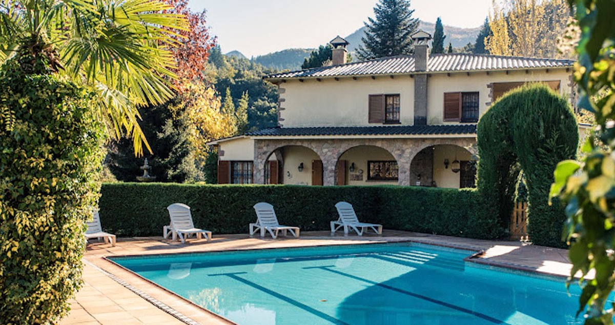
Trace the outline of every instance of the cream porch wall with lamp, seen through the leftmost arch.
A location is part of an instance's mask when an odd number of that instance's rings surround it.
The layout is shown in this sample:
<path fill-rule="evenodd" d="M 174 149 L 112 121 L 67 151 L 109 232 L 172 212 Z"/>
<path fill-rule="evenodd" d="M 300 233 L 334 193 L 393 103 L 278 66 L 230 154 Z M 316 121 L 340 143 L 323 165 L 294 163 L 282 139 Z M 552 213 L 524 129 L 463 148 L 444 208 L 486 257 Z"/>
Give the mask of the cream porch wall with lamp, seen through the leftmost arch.
<path fill-rule="evenodd" d="M 304 146 L 285 146 L 282 148 L 282 157 L 284 157 L 283 184 L 312 185 L 312 161 L 320 160 L 318 154 Z M 301 162 L 303 162 L 303 172 L 298 168 Z"/>

